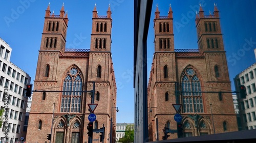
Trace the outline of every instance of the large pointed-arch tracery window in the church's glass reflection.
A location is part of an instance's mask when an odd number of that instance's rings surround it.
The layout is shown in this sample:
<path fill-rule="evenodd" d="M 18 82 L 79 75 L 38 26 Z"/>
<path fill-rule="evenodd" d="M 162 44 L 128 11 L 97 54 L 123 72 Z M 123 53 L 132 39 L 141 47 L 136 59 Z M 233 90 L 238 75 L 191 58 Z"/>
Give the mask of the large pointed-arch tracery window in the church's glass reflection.
<path fill-rule="evenodd" d="M 201 83 L 193 68 L 187 68 L 182 76 L 183 112 L 203 112 Z M 189 93 L 196 92 L 196 93 Z"/>

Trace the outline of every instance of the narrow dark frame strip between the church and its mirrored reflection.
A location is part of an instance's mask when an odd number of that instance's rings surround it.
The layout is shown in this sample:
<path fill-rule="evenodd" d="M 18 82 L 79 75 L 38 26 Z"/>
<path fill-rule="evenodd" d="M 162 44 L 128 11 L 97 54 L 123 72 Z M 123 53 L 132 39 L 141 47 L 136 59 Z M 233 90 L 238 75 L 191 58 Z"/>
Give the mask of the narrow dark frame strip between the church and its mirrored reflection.
<path fill-rule="evenodd" d="M 153 0 L 134 0 L 134 142 L 148 141 L 147 33 Z"/>

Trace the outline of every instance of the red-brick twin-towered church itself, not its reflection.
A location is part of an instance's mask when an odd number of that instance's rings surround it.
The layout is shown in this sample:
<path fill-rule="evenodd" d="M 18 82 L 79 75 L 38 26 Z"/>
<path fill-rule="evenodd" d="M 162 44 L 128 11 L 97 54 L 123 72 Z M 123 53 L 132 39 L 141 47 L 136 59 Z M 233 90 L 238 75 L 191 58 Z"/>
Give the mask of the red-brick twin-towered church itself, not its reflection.
<path fill-rule="evenodd" d="M 33 92 L 29 113 L 28 142 L 47 142 L 51 131 L 51 142 L 88 142 L 90 103 L 98 104 L 93 129 L 104 125 L 107 142 L 111 124 L 116 124 L 116 81 L 110 6 L 106 9 L 106 16 L 99 16 L 94 7 L 90 49 L 67 49 L 68 14 L 64 6 L 59 15 L 51 14 L 48 6 L 34 80 L 38 92 Z M 91 92 L 94 88 L 95 94 Z M 115 136 L 115 127 L 112 131 Z M 93 133 L 92 142 L 99 142 L 99 135 Z"/>

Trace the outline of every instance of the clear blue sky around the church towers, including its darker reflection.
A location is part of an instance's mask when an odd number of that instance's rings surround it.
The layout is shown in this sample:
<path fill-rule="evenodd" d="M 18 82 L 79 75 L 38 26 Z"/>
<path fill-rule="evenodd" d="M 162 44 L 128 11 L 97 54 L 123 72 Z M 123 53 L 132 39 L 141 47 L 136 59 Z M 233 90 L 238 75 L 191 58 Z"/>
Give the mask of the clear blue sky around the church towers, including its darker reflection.
<path fill-rule="evenodd" d="M 92 11 L 97 5 L 98 15 L 112 10 L 112 59 L 117 81 L 117 123 L 134 122 L 133 89 L 133 0 L 50 1 L 51 12 L 59 14 L 62 3 L 68 11 L 66 48 L 90 48 Z M 205 15 L 214 11 L 217 3 L 221 16 L 221 30 L 227 55 L 230 81 L 239 72 L 255 63 L 256 1 L 238 0 L 154 0 L 148 33 L 148 72 L 154 53 L 156 5 L 161 16 L 167 15 L 169 4 L 174 11 L 175 49 L 198 48 L 195 11 L 202 4 Z M 49 1 L 3 1 L 0 9 L 0 37 L 12 47 L 11 62 L 26 71 L 34 80 L 45 10 Z M 78 40 L 79 42 L 77 42 Z M 76 42 L 74 42 L 76 41 Z"/>

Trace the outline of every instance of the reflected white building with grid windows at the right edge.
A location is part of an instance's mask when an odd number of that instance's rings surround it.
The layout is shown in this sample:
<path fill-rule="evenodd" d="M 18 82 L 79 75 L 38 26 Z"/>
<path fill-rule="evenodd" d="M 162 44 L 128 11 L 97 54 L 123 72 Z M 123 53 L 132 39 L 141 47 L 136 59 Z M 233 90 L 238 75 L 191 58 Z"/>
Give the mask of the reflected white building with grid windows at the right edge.
<path fill-rule="evenodd" d="M 254 49 L 255 52 L 256 49 Z M 242 130 L 256 129 L 256 63 L 240 72 L 234 78 L 234 83 L 237 91 L 239 91 L 239 85 L 244 85 L 247 94 L 246 98 L 243 99 L 238 93 Z"/>

